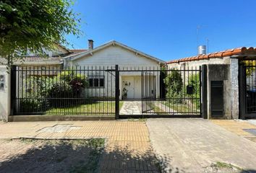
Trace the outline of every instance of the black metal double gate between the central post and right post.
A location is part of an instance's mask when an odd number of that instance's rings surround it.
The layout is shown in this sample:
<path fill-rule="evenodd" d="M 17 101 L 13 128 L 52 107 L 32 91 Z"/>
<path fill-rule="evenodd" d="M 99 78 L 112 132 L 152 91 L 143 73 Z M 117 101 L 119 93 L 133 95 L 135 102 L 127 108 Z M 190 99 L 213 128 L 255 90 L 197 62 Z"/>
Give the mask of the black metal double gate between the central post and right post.
<path fill-rule="evenodd" d="M 202 71 L 198 68 L 133 68 L 119 69 L 122 76 L 139 75 L 141 91 L 140 99 L 125 100 L 122 104 L 127 110 L 119 117 L 202 117 Z M 121 83 L 122 83 L 121 82 Z M 125 83 L 125 82 L 124 82 Z M 140 88 L 139 88 L 140 87 Z M 121 94 L 123 87 L 121 88 Z M 129 90 L 129 89 L 128 89 Z M 127 89 L 124 90 L 127 92 Z M 135 105 L 136 104 L 136 105 Z M 133 108 L 129 105 L 134 105 Z M 137 110 L 135 109 L 137 107 Z"/>

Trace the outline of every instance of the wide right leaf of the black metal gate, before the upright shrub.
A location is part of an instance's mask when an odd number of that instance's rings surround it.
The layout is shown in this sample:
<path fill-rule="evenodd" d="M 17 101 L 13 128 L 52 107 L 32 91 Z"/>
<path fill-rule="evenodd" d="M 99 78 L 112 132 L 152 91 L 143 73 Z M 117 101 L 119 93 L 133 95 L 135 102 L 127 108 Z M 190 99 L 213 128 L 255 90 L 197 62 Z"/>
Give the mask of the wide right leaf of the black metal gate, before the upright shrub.
<path fill-rule="evenodd" d="M 201 67 L 142 71 L 142 113 L 201 117 Z"/>

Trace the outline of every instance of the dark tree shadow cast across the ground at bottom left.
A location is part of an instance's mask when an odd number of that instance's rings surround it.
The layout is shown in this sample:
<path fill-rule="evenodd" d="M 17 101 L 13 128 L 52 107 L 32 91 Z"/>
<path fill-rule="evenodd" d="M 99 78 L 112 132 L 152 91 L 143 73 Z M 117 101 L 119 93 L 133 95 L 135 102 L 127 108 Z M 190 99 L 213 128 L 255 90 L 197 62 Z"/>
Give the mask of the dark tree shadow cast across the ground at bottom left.
<path fill-rule="evenodd" d="M 0 160 L 0 172 L 161 172 L 168 161 L 167 158 L 158 161 L 151 151 L 135 154 L 118 147 L 106 151 L 104 139 L 17 142 L 30 147 Z"/>

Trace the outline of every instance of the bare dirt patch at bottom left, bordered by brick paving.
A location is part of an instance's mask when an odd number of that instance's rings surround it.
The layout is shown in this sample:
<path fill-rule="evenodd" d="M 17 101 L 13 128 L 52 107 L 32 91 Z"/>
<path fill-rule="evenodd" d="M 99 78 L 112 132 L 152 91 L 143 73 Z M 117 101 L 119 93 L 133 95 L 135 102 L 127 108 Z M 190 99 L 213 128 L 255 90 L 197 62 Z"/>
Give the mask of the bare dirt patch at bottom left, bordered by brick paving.
<path fill-rule="evenodd" d="M 104 139 L 1 140 L 0 172 L 97 172 Z"/>

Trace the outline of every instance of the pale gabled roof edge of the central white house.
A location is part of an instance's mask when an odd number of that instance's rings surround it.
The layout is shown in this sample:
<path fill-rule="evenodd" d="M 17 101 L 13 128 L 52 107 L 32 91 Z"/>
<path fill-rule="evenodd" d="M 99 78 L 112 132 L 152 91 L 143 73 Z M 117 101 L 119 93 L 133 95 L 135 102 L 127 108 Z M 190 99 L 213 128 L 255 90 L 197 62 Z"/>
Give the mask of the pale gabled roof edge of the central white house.
<path fill-rule="evenodd" d="M 108 46 L 111 46 L 111 45 L 119 45 L 121 48 L 130 50 L 130 51 L 136 53 L 137 55 L 145 56 L 145 58 L 149 58 L 149 59 L 151 59 L 153 61 L 158 61 L 160 63 L 166 63 L 165 61 L 162 61 L 161 59 L 155 58 L 155 57 L 150 56 L 150 55 L 148 55 L 146 53 L 142 53 L 140 50 L 136 50 L 135 48 L 130 48 L 129 46 L 124 45 L 122 43 L 119 43 L 119 42 L 117 42 L 115 40 L 111 40 L 110 42 L 105 43 L 103 45 L 100 45 L 97 48 L 94 48 L 93 50 L 87 50 L 87 51 L 82 52 L 82 53 L 77 53 L 77 55 L 75 55 L 75 56 L 66 56 L 64 58 L 71 58 L 70 60 L 73 61 L 73 60 L 82 58 L 84 56 L 92 55 L 93 53 L 97 52 L 98 50 L 103 50 L 104 48 L 107 48 Z"/>

